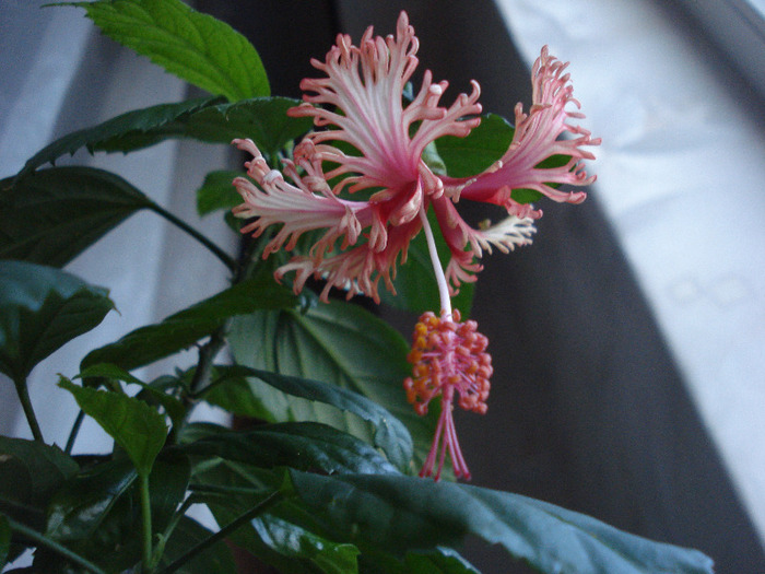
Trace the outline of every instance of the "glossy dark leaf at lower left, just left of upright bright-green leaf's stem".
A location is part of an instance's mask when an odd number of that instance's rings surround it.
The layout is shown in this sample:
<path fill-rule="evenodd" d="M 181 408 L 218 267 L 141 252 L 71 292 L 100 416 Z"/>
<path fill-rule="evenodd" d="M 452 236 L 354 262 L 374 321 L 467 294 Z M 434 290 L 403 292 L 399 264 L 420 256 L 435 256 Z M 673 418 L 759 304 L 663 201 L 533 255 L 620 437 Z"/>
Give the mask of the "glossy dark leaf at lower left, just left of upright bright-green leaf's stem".
<path fill-rule="evenodd" d="M 91 539 L 137 477 L 127 459 L 96 465 L 72 477 L 50 501 L 46 535 L 62 542 Z"/>

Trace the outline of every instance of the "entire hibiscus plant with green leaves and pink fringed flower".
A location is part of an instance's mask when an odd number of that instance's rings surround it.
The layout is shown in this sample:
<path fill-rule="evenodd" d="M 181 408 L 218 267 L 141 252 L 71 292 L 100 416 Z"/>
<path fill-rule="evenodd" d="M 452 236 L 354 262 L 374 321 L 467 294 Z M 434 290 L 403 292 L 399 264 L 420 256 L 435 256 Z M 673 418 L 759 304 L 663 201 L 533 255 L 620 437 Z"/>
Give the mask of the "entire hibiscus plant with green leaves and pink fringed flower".
<path fill-rule="evenodd" d="M 369 31 L 360 43 L 366 51 L 339 37 L 327 62 L 316 62 L 327 78 L 307 80 L 310 94 L 301 104 L 270 94 L 244 37 L 179 0 L 72 5 L 113 39 L 211 95 L 70 133 L 0 181 L 0 371 L 15 386 L 34 436 L 0 437 L 0 566 L 34 549 L 34 572 L 228 573 L 236 569 L 234 544 L 283 572 L 469 573 L 476 571 L 458 549 L 474 535 L 540 572 L 711 572 L 711 561 L 694 550 L 456 482 L 450 472 L 442 481 L 416 476 L 424 465 L 421 475 L 439 478 L 448 454 L 454 473 L 469 478 L 450 412 L 458 395 L 460 406 L 485 409 L 485 341 L 456 312 L 469 313 L 481 250 L 530 243 L 532 219 L 541 214 L 530 201 L 579 202 L 584 194 L 557 191 L 557 185 L 591 180 L 580 164 L 591 154 L 581 147 L 598 142 L 564 124 L 577 115 L 563 112 L 572 99 L 560 62 L 542 52 L 536 90 L 552 103 L 537 103 L 528 115 L 517 109 L 514 129 L 498 116 L 480 116 L 476 85 L 449 108 L 438 106 L 446 84 L 432 83 L 429 73 L 419 94 L 407 85 L 417 45 L 405 14 L 396 37 Z M 368 60 L 360 65 L 358 58 Z M 398 94 L 391 114 L 409 128 L 398 134 L 396 173 L 375 156 L 379 150 L 368 145 L 369 132 L 358 130 L 361 120 L 342 97 L 365 72 L 370 75 L 355 89 Z M 548 87 L 554 90 L 546 94 Z M 385 121 L 366 128 L 389 136 Z M 311 131 L 327 125 L 334 131 Z M 525 142 L 539 136 L 540 125 L 552 128 L 537 157 L 539 150 Z M 575 136 L 573 143 L 557 140 L 563 131 Z M 227 212 L 239 203 L 236 178 L 244 203 L 235 212 L 247 235 L 258 235 L 239 257 L 118 174 L 54 165 L 81 148 L 130 153 L 169 138 L 236 140 L 252 155 L 247 176 L 212 173 L 197 194 L 200 214 Z M 543 179 L 514 179 L 523 169 L 517 149 L 529 154 L 527 172 Z M 404 188 L 411 192 L 402 198 Z M 365 200 L 352 201 L 349 191 Z M 455 209 L 460 194 L 506 208 L 509 219 L 471 230 Z M 294 219 L 294 210 L 279 203 L 287 200 L 310 203 L 308 220 L 323 216 L 323 223 Z M 269 211 L 263 201 L 276 207 Z M 165 218 L 219 257 L 231 286 L 94 349 L 79 373 L 51 380 L 81 408 L 61 448 L 40 432 L 27 376 L 119 305 L 62 267 L 140 210 Z M 358 254 L 375 266 L 349 271 L 343 261 Z M 449 260 L 446 274 L 439 258 Z M 320 293 L 314 293 L 304 284 L 310 276 L 326 289 L 317 282 Z M 380 280 L 388 289 L 378 289 Z M 427 338 L 417 343 L 415 336 L 410 351 L 372 313 L 343 297 L 329 301 L 329 288 L 415 313 L 440 304 L 442 313 L 423 315 L 417 329 Z M 154 380 L 134 373 L 190 347 L 198 350 L 191 368 Z M 454 366 L 444 356 L 455 352 L 483 361 L 458 367 L 478 386 L 439 383 L 438 370 Z M 428 413 L 435 397 L 440 405 Z M 231 430 L 189 422 L 202 402 L 258 424 Z M 111 453 L 72 455 L 85 417 L 114 438 Z M 219 528 L 189 517 L 193 504 L 207 505 Z"/>

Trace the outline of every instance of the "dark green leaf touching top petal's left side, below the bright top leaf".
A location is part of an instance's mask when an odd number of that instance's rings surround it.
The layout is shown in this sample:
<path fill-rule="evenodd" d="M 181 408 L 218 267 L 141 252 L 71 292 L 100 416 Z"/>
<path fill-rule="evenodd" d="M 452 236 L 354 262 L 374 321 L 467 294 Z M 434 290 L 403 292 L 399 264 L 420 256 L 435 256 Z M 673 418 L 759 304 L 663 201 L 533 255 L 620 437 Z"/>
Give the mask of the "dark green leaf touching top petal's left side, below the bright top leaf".
<path fill-rule="evenodd" d="M 189 118 L 187 133 L 202 141 L 228 143 L 249 138 L 269 156 L 308 131 L 311 118 L 291 118 L 287 109 L 298 105 L 290 97 L 255 97 L 202 109 Z"/>

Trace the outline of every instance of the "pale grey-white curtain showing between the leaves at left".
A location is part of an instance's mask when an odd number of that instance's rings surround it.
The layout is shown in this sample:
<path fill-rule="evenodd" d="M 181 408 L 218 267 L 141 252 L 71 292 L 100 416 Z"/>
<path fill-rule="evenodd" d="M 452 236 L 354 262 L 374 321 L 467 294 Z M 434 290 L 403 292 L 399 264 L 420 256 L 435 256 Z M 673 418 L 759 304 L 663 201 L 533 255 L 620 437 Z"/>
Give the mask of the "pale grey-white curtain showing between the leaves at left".
<path fill-rule="evenodd" d="M 102 36 L 82 9 L 42 8 L 43 1 L 5 0 L 0 4 L 0 177 L 55 138 L 96 125 L 131 109 L 179 102 L 187 85 L 148 59 Z M 30 33 L 34 31 L 34 34 Z M 129 155 L 86 152 L 62 159 L 114 171 L 154 201 L 199 225 L 195 189 L 204 174 L 231 167 L 225 145 L 167 141 Z M 202 220 L 202 231 L 232 253 L 236 236 L 220 218 Z M 58 373 L 74 376 L 92 349 L 155 323 L 226 286 L 225 267 L 185 233 L 157 215 L 139 212 L 70 265 L 67 271 L 110 290 L 111 312 L 93 331 L 66 344 L 30 377 L 31 398 L 47 442 L 67 441 L 76 406 L 56 386 Z M 186 366 L 195 360 L 188 352 Z M 158 367 L 143 370 L 148 379 Z M 31 437 L 10 380 L 0 379 L 0 433 Z M 212 413 L 215 415 L 214 413 Z M 110 441 L 85 422 L 75 453 L 108 452 Z"/>

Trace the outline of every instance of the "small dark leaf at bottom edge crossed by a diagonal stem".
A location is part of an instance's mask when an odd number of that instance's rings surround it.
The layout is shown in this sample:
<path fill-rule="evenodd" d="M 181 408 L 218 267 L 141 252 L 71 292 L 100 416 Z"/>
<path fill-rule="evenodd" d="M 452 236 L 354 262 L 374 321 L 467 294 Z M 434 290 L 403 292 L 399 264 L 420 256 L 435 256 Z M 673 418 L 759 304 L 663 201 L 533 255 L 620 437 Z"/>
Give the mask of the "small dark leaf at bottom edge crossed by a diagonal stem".
<path fill-rule="evenodd" d="M 197 520 L 185 516 L 180 519 L 176 529 L 173 530 L 173 536 L 170 536 L 169 541 L 165 546 L 165 553 L 160 562 L 160 566 L 169 565 L 170 562 L 180 558 L 212 535 L 213 532 Z M 234 573 L 237 572 L 237 567 L 231 550 L 224 541 L 220 541 L 175 572 L 177 574 Z"/>

